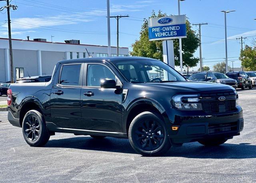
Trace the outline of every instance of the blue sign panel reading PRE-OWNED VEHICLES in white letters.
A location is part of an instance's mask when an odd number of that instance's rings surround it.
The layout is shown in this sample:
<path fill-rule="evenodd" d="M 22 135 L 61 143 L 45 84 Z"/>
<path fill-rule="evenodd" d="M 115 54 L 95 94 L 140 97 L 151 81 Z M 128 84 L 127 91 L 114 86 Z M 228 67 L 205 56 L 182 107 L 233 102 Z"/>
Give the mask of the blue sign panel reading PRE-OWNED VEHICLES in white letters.
<path fill-rule="evenodd" d="M 162 19 L 159 19 L 158 21 Z M 166 21 L 170 21 L 170 20 L 162 20 L 162 22 L 166 22 Z M 160 24 L 164 24 L 164 23 L 160 23 Z M 149 27 L 148 37 L 150 40 L 186 38 L 186 24 L 172 24 L 172 25 Z"/>

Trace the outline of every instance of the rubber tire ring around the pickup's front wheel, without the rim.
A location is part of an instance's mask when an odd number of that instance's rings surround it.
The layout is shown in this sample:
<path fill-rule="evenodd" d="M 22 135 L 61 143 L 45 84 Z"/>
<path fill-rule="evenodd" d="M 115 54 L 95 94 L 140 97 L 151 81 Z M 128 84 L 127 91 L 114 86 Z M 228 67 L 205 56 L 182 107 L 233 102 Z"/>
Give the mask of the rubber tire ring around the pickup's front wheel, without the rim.
<path fill-rule="evenodd" d="M 140 147 L 137 144 L 136 140 L 134 140 L 135 136 L 133 134 L 133 130 L 136 130 L 137 125 L 139 123 L 141 123 L 142 121 L 146 120 L 146 119 L 154 119 L 155 121 L 157 121 L 162 126 L 162 129 L 164 131 L 164 139 L 163 139 L 162 144 L 160 145 L 160 147 L 158 147 L 157 149 L 154 149 L 153 151 L 145 151 L 143 149 L 140 149 Z M 140 153 L 142 155 L 148 155 L 148 156 L 158 155 L 158 154 L 162 153 L 161 152 L 162 149 L 164 149 L 164 147 L 166 145 L 168 145 L 168 143 L 170 143 L 170 140 L 168 139 L 165 123 L 162 121 L 162 119 L 160 117 L 158 117 L 156 114 L 154 114 L 152 112 L 147 112 L 147 113 L 143 112 L 143 113 L 140 113 L 139 115 L 137 115 L 132 120 L 132 123 L 130 124 L 128 136 L 129 136 L 130 143 L 131 143 L 132 147 L 134 148 L 134 150 L 137 153 Z"/>

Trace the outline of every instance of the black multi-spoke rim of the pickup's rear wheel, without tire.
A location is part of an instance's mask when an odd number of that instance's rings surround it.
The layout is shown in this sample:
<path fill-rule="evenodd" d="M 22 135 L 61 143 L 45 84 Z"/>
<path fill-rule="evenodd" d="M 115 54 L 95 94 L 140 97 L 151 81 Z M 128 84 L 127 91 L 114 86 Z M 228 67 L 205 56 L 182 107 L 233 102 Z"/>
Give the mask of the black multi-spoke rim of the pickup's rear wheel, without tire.
<path fill-rule="evenodd" d="M 40 134 L 39 121 L 33 115 L 29 116 L 25 121 L 25 134 L 30 141 L 36 141 Z"/>

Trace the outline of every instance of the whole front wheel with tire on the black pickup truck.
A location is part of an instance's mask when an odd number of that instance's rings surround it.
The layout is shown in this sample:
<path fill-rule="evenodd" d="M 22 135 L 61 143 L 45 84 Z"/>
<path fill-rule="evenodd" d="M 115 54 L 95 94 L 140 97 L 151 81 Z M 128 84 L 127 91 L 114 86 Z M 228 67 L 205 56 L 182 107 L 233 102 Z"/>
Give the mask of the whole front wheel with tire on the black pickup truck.
<path fill-rule="evenodd" d="M 150 111 L 132 120 L 128 136 L 132 148 L 143 156 L 162 155 L 171 147 L 164 121 Z"/>

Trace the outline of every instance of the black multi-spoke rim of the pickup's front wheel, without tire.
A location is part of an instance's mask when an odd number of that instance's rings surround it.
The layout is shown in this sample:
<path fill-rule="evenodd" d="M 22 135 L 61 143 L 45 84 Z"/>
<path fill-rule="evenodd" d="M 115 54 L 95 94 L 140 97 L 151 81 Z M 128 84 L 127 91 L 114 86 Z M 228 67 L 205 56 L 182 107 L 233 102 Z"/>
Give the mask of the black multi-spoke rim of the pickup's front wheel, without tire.
<path fill-rule="evenodd" d="M 157 121 L 148 120 L 139 123 L 133 133 L 137 145 L 145 151 L 153 151 L 163 143 L 164 130 Z"/>

